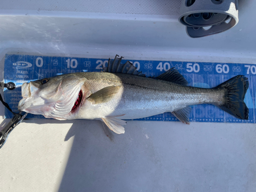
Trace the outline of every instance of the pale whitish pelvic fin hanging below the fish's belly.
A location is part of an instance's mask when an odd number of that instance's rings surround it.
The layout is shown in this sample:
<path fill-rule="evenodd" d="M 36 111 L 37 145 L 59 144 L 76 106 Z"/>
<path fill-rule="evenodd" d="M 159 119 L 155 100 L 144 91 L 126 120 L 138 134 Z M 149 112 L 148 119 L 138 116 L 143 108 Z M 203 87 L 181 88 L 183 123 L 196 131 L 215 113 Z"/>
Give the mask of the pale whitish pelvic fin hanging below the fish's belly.
<path fill-rule="evenodd" d="M 125 125 L 126 121 L 117 119 L 115 117 L 104 117 L 101 119 L 113 132 L 117 134 L 124 133 L 124 127 L 122 125 Z"/>

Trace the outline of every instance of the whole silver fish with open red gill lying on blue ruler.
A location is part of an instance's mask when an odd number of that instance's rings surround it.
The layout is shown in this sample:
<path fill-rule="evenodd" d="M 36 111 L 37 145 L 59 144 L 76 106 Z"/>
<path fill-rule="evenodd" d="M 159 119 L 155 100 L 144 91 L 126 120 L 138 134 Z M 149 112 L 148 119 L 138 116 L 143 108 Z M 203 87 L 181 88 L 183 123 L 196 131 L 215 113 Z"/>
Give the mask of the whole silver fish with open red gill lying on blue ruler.
<path fill-rule="evenodd" d="M 101 72 L 62 74 L 22 84 L 18 110 L 59 120 L 97 119 L 117 134 L 127 119 L 172 113 L 189 124 L 191 105 L 213 104 L 239 119 L 248 119 L 244 102 L 248 78 L 237 75 L 211 89 L 187 86 L 172 68 L 146 77 L 123 57 L 109 59 Z"/>

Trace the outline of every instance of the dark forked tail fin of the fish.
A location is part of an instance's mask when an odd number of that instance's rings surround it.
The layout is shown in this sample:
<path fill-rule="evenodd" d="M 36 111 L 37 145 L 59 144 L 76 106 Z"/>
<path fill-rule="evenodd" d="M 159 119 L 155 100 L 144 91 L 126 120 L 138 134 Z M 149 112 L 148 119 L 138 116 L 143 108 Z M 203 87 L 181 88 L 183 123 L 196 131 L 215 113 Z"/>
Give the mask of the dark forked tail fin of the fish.
<path fill-rule="evenodd" d="M 249 110 L 244 103 L 244 96 L 248 87 L 248 78 L 243 75 L 238 75 L 221 83 L 216 89 L 225 90 L 225 101 L 222 105 L 217 106 L 234 117 L 248 119 Z"/>

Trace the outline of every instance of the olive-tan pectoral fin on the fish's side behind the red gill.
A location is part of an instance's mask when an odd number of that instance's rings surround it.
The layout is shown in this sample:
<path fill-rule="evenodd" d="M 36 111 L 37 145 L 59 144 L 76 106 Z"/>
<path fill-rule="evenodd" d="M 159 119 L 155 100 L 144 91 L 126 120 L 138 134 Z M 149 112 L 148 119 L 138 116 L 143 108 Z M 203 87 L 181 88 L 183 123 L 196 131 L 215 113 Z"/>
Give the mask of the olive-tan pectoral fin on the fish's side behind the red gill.
<path fill-rule="evenodd" d="M 114 97 L 116 93 L 118 93 L 121 86 L 110 86 L 103 88 L 88 97 L 88 100 L 92 102 L 92 104 L 99 104 L 108 102 L 110 99 Z"/>

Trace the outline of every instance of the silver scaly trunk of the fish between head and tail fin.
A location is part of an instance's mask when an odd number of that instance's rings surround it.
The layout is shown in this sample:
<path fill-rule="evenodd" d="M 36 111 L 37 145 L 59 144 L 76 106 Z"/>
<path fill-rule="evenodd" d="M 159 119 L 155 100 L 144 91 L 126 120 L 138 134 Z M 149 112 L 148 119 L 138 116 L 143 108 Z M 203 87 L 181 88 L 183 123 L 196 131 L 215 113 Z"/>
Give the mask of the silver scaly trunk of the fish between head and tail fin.
<path fill-rule="evenodd" d="M 76 118 L 116 116 L 137 119 L 173 112 L 188 105 L 223 102 L 223 90 L 182 86 L 177 83 L 121 73 L 83 73 L 84 89 L 90 93 L 109 86 L 121 86 L 108 102 L 84 102 Z"/>

